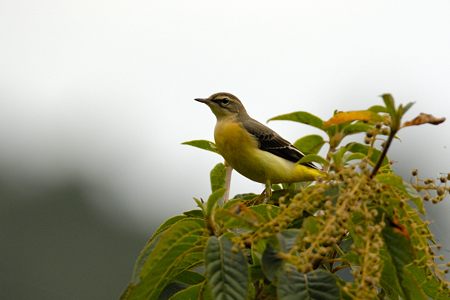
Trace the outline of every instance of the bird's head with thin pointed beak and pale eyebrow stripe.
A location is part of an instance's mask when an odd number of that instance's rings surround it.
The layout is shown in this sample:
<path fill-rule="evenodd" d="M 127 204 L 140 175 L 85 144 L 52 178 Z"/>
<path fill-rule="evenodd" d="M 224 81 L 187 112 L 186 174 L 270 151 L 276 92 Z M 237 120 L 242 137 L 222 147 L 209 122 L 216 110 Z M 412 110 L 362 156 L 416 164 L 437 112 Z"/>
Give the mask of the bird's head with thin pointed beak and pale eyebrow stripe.
<path fill-rule="evenodd" d="M 208 105 L 218 120 L 247 114 L 241 101 L 230 93 L 216 93 L 208 98 L 197 98 L 195 100 Z"/>

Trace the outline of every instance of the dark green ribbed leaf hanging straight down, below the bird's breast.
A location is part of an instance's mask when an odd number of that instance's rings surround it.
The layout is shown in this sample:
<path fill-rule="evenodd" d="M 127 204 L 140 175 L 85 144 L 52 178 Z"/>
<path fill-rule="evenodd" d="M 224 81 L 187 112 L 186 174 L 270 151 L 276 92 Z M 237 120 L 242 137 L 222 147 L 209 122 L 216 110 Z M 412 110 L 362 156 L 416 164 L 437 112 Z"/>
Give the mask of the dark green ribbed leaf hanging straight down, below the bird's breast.
<path fill-rule="evenodd" d="M 205 250 L 206 277 L 214 299 L 242 299 L 248 293 L 247 259 L 226 236 L 211 236 Z"/>

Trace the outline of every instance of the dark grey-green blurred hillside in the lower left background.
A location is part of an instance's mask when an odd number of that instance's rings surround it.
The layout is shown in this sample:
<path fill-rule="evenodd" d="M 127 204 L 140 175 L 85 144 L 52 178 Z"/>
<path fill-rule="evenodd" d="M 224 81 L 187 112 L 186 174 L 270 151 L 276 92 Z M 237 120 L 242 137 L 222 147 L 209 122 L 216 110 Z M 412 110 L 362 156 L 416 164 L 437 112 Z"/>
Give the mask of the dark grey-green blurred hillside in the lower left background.
<path fill-rule="evenodd" d="M 117 299 L 147 237 L 99 216 L 79 182 L 43 186 L 4 176 L 0 299 Z"/>

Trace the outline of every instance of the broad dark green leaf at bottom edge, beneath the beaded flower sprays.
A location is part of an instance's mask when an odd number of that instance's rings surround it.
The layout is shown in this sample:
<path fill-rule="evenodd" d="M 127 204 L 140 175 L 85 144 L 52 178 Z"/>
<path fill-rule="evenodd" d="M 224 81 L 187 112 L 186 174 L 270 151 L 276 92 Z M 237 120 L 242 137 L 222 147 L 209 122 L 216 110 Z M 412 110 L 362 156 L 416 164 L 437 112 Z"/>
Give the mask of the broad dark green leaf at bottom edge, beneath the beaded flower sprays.
<path fill-rule="evenodd" d="M 337 300 L 341 297 L 336 277 L 330 272 L 317 269 L 300 273 L 293 267 L 279 274 L 277 294 L 279 300 Z"/>

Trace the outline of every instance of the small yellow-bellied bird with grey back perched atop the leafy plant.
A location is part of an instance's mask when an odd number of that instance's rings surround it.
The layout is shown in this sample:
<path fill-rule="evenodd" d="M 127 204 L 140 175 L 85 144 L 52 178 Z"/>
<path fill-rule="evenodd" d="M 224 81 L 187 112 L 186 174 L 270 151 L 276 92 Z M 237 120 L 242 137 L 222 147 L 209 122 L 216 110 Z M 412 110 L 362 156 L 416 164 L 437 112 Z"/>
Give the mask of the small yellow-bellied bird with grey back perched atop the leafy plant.
<path fill-rule="evenodd" d="M 276 183 L 314 181 L 323 172 L 312 163 L 298 163 L 304 154 L 269 127 L 251 118 L 233 94 L 220 92 L 196 98 L 217 118 L 214 140 L 217 152 L 241 175 L 265 184 L 266 197 Z"/>

